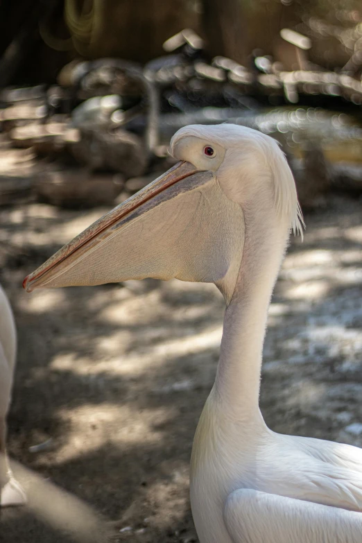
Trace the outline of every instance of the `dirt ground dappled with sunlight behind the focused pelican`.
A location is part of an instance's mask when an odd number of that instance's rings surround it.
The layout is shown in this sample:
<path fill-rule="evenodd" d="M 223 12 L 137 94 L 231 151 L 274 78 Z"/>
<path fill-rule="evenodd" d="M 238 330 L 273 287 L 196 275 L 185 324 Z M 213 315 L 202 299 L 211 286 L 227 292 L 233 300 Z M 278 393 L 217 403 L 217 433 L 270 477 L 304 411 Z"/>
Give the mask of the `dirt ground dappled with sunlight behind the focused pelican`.
<path fill-rule="evenodd" d="M 21 288 L 103 212 L 1 209 L 0 282 L 19 336 L 9 451 L 105 515 L 115 541 L 196 542 L 189 458 L 218 361 L 221 295 L 176 280 Z M 362 445 L 362 202 L 331 197 L 306 223 L 270 307 L 261 408 L 275 431 Z M 0 541 L 70 540 L 21 509 L 1 512 Z"/>

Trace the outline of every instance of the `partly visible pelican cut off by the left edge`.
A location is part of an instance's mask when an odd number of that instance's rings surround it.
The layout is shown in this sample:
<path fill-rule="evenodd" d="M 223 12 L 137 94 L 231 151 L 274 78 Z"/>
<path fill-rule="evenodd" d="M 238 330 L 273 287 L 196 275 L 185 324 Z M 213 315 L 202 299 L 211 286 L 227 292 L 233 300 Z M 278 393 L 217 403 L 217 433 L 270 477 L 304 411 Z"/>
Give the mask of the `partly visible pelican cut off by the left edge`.
<path fill-rule="evenodd" d="M 26 503 L 24 490 L 14 479 L 6 458 L 6 415 L 15 369 L 16 331 L 8 298 L 0 286 L 0 506 Z"/>

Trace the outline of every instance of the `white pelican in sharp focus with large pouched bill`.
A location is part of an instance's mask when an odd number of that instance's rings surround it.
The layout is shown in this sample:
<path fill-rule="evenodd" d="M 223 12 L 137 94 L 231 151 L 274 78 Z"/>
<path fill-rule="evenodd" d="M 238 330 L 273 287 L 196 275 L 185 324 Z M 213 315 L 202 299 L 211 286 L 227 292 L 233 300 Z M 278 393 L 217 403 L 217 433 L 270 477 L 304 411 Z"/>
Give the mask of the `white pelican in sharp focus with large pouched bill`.
<path fill-rule="evenodd" d="M 270 431 L 261 354 L 289 232 L 302 228 L 277 142 L 234 125 L 187 126 L 179 162 L 24 280 L 34 288 L 155 277 L 213 282 L 225 311 L 220 360 L 191 458 L 200 543 L 361 543 L 362 450 Z"/>

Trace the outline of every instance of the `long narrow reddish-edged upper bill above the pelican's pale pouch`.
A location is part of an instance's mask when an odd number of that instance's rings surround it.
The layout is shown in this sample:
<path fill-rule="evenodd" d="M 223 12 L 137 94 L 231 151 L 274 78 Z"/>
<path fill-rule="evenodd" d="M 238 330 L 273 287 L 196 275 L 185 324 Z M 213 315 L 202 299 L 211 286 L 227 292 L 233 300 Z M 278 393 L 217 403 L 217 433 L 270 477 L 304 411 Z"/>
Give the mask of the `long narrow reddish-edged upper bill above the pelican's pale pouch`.
<path fill-rule="evenodd" d="M 134 212 L 141 205 L 153 200 L 155 196 L 172 187 L 175 183 L 188 178 L 190 175 L 199 173 L 193 164 L 189 162 L 178 162 L 164 175 L 157 178 L 137 194 L 128 198 L 126 202 L 115 207 L 109 213 L 98 219 L 84 232 L 76 236 L 67 245 L 48 259 L 35 272 L 28 275 L 23 282 L 27 292 L 35 288 L 53 286 L 53 279 L 58 277 L 65 269 L 69 268 L 75 261 L 85 255 L 89 250 L 94 249 L 98 243 L 103 243 L 108 236 L 112 236 L 117 230 L 117 225 L 123 221 L 126 215 Z"/>

